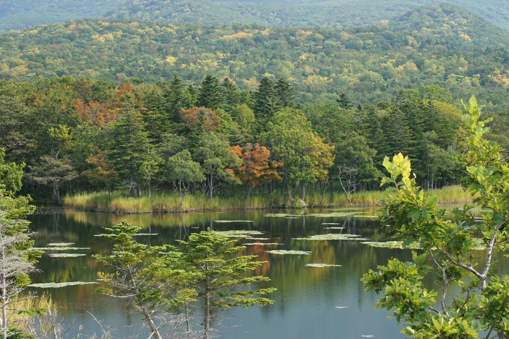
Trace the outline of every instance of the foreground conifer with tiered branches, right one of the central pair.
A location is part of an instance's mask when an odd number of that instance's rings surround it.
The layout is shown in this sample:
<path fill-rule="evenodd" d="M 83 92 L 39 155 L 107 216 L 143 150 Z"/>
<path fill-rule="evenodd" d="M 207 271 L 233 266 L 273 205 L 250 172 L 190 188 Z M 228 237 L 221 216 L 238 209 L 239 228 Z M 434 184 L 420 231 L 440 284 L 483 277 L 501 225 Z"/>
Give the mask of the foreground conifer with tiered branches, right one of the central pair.
<path fill-rule="evenodd" d="M 210 229 L 191 234 L 188 241 L 177 241 L 182 246 L 182 262 L 187 265 L 188 271 L 196 274 L 191 286 L 202 303 L 204 339 L 213 337 L 212 332 L 216 330 L 214 322 L 220 321 L 217 316 L 223 310 L 273 303 L 263 296 L 276 289 L 243 288 L 269 280 L 262 275 L 248 275 L 267 262 L 253 261 L 257 256 L 234 256 L 245 246 L 232 246 L 235 240 Z"/>

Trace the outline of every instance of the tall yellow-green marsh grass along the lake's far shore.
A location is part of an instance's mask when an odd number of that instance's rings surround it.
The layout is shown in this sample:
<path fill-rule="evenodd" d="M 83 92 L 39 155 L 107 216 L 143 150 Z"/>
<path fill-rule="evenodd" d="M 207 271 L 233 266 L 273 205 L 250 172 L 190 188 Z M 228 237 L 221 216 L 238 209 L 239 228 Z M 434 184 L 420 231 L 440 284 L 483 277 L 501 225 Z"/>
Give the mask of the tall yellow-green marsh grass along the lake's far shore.
<path fill-rule="evenodd" d="M 471 196 L 463 192 L 459 185 L 426 191 L 426 194 L 437 195 L 438 202 L 464 203 L 472 200 Z M 265 208 L 335 208 L 353 206 L 374 206 L 383 198 L 383 191 L 361 191 L 350 196 L 352 204 L 348 203 L 345 194 L 340 191 L 327 192 L 310 190 L 306 196 L 305 204 L 299 199 L 291 202 L 284 192 L 272 194 L 252 194 L 248 199 L 244 192 L 234 192 L 230 196 L 216 196 L 209 199 L 201 193 L 188 194 L 184 204 L 180 207 L 181 199 L 174 192 L 159 191 L 152 193 L 149 200 L 147 196 L 130 197 L 128 192 L 77 193 L 66 196 L 64 205 L 76 209 L 95 212 L 114 213 L 152 213 L 152 212 L 193 212 L 231 209 L 265 209 Z"/>

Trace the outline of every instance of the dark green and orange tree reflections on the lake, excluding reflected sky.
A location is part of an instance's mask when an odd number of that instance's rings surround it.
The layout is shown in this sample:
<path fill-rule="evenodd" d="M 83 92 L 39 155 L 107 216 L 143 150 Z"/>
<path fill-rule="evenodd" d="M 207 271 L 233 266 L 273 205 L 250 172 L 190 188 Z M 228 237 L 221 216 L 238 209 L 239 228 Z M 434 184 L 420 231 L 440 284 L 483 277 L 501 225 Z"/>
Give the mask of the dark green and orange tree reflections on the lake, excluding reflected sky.
<path fill-rule="evenodd" d="M 37 246 L 50 242 L 73 242 L 76 247 L 92 247 L 91 250 L 72 251 L 87 253 L 87 257 L 41 259 L 38 268 L 43 272 L 36 273 L 34 282 L 49 281 L 93 281 L 96 272 L 104 268 L 90 257 L 93 253 L 107 255 L 111 246 L 102 237 L 94 235 L 104 233 L 105 227 L 111 227 L 121 219 L 143 228 L 143 233 L 158 233 L 157 236 L 140 236 L 140 242 L 152 245 L 175 244 L 175 239 L 187 240 L 189 234 L 206 230 L 250 230 L 261 231 L 263 235 L 253 238 L 270 238 L 260 242 L 282 243 L 282 245 L 252 245 L 242 251 L 242 255 L 257 255 L 260 261 L 268 261 L 259 267 L 254 274 L 267 275 L 271 281 L 261 283 L 257 287 L 275 287 L 278 289 L 272 298 L 273 305 L 261 308 L 261 312 L 269 316 L 271 310 L 278 309 L 281 314 L 288 312 L 289 307 L 300 307 L 306 302 L 310 293 L 315 298 L 333 302 L 338 295 L 350 293 L 356 295 L 358 302 L 367 298 L 359 279 L 364 272 L 375 268 L 377 264 L 386 263 L 391 256 L 402 260 L 410 258 L 410 251 L 389 248 L 375 248 L 360 244 L 356 240 L 322 240 L 303 241 L 292 238 L 327 233 L 350 233 L 370 238 L 373 241 L 385 240 L 387 235 L 379 227 L 377 221 L 356 217 L 314 217 L 300 214 L 329 213 L 330 210 L 289 210 L 289 211 L 225 211 L 205 213 L 165 213 L 119 215 L 110 213 L 66 212 L 33 217 L 33 230 L 38 232 Z M 296 218 L 265 217 L 265 213 L 288 213 L 299 215 Z M 368 211 L 366 214 L 373 214 Z M 252 220 L 253 222 L 217 223 L 214 220 Z M 322 223 L 338 223 L 337 227 L 344 230 L 325 229 Z M 241 239 L 239 244 L 257 242 L 254 239 Z M 312 251 L 311 255 L 273 255 L 270 249 L 295 249 Z M 341 267 L 305 267 L 306 263 L 323 263 L 342 265 Z M 99 285 L 96 285 L 99 286 Z M 80 310 L 91 309 L 91 300 L 99 298 L 91 296 L 96 286 L 73 286 L 52 289 L 51 294 L 63 303 L 76 303 Z M 370 301 L 371 302 L 371 301 Z M 327 307 L 337 305 L 327 305 Z M 116 309 L 118 304 L 105 307 L 108 312 L 124 313 L 123 308 Z M 371 304 L 370 304 L 371 308 Z M 135 322 L 133 320 L 133 322 Z"/>

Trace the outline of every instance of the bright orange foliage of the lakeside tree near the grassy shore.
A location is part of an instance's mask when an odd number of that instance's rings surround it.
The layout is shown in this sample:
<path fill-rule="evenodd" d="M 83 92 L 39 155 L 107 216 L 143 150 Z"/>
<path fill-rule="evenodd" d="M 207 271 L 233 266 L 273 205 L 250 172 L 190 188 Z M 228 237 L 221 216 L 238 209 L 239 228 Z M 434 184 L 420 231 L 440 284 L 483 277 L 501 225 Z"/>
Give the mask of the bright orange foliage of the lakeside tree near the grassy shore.
<path fill-rule="evenodd" d="M 230 147 L 243 161 L 236 168 L 235 176 L 248 186 L 259 186 L 273 180 L 281 180 L 275 168 L 281 167 L 281 162 L 270 161 L 270 151 L 260 144 L 247 143 L 244 147 Z"/>

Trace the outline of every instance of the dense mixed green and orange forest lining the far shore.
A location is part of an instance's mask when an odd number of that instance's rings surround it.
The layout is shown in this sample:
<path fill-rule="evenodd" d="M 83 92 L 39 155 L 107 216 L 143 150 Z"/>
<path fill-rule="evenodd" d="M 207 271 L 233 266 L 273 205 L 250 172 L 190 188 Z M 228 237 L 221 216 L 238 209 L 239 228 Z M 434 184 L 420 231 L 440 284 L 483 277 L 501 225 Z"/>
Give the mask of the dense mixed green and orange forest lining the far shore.
<path fill-rule="evenodd" d="M 178 76 L 156 84 L 64 76 L 3 81 L 0 95 L 6 161 L 26 164 L 26 191 L 59 203 L 65 192 L 104 189 L 169 189 L 185 199 L 259 187 L 293 201 L 335 183 L 350 194 L 378 187 L 383 157 L 398 152 L 432 188 L 459 182 L 466 161 L 461 110 L 437 86 L 377 104 L 342 94 L 303 105 L 282 78 L 249 91 L 213 75 L 197 87 Z M 504 145 L 508 114 L 491 113 L 491 137 Z"/>

